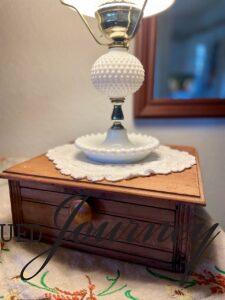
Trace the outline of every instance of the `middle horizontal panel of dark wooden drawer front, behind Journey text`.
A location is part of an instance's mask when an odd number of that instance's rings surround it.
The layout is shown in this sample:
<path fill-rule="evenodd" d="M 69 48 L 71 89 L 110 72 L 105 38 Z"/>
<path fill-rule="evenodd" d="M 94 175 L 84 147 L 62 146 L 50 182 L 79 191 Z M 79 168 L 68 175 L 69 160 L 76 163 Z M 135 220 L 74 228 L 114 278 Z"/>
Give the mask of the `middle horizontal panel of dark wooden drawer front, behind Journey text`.
<path fill-rule="evenodd" d="M 54 214 L 57 209 L 56 206 L 23 200 L 22 209 L 23 221 L 25 224 L 44 225 L 48 228 L 56 227 L 54 224 Z M 65 223 L 65 220 L 68 218 L 68 215 L 69 210 L 67 208 L 61 209 L 58 216 L 58 229 L 62 228 L 63 224 Z M 173 226 L 170 226 L 168 228 L 168 231 L 166 232 L 166 237 L 169 237 L 164 241 L 159 242 L 159 235 L 163 231 L 163 227 L 160 224 L 148 223 L 137 220 L 131 221 L 126 218 L 94 212 L 93 220 L 91 222 L 93 228 L 91 228 L 90 230 L 90 226 L 85 225 L 85 227 L 81 230 L 81 234 L 90 237 L 95 237 L 96 234 L 99 233 L 99 231 L 101 230 L 101 225 L 104 224 L 104 222 L 107 222 L 107 225 L 104 227 L 104 231 L 101 234 L 103 239 L 109 238 L 113 228 L 115 228 L 117 224 L 121 224 L 116 234 L 116 240 L 129 244 L 132 243 L 134 245 L 145 248 L 154 248 L 169 251 L 171 253 L 173 252 L 173 242 L 170 238 L 174 230 Z M 71 236 L 71 233 L 75 228 L 76 225 L 71 224 L 70 228 L 68 229 L 70 232 L 67 233 L 67 237 Z M 134 231 L 134 229 L 136 230 Z M 151 233 L 148 236 L 148 239 L 144 240 L 148 230 L 151 230 Z M 131 235 L 132 241 L 129 240 L 129 236 Z"/>

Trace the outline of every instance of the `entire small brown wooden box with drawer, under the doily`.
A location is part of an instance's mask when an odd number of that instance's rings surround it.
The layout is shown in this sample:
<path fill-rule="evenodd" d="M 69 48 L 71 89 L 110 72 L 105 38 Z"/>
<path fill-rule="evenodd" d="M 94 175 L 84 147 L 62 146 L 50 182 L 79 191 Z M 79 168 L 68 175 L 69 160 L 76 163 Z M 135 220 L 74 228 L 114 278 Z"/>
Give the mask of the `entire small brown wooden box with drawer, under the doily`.
<path fill-rule="evenodd" d="M 188 228 L 193 221 L 192 212 L 197 205 L 204 206 L 205 200 L 196 151 L 190 147 L 176 148 L 195 155 L 197 165 L 181 173 L 114 183 L 75 181 L 61 175 L 44 155 L 16 165 L 1 174 L 9 180 L 13 222 L 41 225 L 42 240 L 52 243 L 60 229 L 53 220 L 57 207 L 70 196 L 88 196 L 93 226 L 99 228 L 108 222 L 104 237 L 96 241 L 97 231 L 88 232 L 84 227 L 81 241 L 74 241 L 67 234 L 64 246 L 183 272 L 191 251 Z M 70 208 L 67 205 L 61 210 L 60 226 L 69 216 Z M 109 234 L 118 223 L 122 224 L 121 231 L 115 240 L 110 240 Z M 176 238 L 165 239 L 163 226 L 167 226 L 169 236 L 176 232 Z M 147 239 L 150 228 L 154 229 Z"/>

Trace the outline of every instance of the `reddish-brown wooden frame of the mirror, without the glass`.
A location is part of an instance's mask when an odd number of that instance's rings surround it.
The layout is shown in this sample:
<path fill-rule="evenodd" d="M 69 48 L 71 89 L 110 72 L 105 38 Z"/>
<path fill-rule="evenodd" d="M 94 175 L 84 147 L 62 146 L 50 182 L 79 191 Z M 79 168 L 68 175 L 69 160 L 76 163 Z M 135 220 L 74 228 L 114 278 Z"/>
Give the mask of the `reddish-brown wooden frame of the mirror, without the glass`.
<path fill-rule="evenodd" d="M 225 117 L 225 99 L 154 99 L 154 73 L 157 46 L 157 17 L 144 19 L 136 37 L 135 54 L 146 77 L 134 97 L 135 118 Z"/>

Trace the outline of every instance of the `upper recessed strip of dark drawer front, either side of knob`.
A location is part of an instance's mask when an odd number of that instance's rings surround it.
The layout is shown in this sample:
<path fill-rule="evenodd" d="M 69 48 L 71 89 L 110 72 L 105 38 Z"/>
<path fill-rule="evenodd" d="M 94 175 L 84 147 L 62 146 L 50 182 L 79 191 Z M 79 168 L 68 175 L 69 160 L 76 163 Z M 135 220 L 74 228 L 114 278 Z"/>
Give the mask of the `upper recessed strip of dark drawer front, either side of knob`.
<path fill-rule="evenodd" d="M 21 189 L 21 195 L 25 200 L 46 203 L 54 206 L 58 206 L 62 203 L 62 201 L 73 196 L 71 194 L 48 192 L 27 188 Z M 171 226 L 173 226 L 175 223 L 175 211 L 171 209 L 162 209 L 108 199 L 99 199 L 95 197 L 90 197 L 88 202 L 94 212 L 143 220 L 158 224 L 168 222 L 171 224 Z"/>

